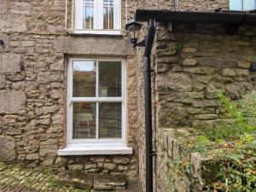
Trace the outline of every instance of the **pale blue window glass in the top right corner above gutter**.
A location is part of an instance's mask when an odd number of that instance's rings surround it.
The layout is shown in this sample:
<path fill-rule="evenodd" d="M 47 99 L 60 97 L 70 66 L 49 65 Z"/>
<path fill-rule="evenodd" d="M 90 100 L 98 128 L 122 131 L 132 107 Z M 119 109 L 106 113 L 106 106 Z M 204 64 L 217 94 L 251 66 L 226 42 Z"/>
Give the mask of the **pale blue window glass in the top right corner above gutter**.
<path fill-rule="evenodd" d="M 253 10 L 256 9 L 255 0 L 230 0 L 230 10 Z"/>

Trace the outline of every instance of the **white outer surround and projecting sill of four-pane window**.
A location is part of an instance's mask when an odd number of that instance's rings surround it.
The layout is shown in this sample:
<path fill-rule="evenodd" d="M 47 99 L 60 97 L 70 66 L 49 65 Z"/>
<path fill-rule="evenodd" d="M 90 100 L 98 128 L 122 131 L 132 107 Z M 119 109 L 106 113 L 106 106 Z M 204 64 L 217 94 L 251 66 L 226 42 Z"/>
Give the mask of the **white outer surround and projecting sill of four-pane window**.
<path fill-rule="evenodd" d="M 71 133 L 72 129 L 70 127 L 70 103 L 72 102 L 69 98 L 70 94 L 72 94 L 71 84 L 73 84 L 71 78 L 73 75 L 72 71 L 72 62 L 73 61 L 122 61 L 122 87 L 123 87 L 123 101 L 125 102 L 125 107 L 123 108 L 123 115 L 122 115 L 122 139 L 104 139 L 102 142 L 95 142 L 92 140 L 88 140 L 89 142 L 83 143 L 72 142 Z M 68 61 L 68 69 L 67 69 L 67 147 L 63 149 L 59 149 L 57 154 L 58 155 L 86 155 L 86 154 L 132 154 L 132 148 L 128 148 L 126 146 L 126 66 L 125 66 L 125 59 L 120 58 L 106 58 L 106 59 L 96 59 L 96 58 L 70 58 Z M 74 140 L 73 140 L 74 141 Z M 99 141 L 99 140 L 97 140 Z"/>

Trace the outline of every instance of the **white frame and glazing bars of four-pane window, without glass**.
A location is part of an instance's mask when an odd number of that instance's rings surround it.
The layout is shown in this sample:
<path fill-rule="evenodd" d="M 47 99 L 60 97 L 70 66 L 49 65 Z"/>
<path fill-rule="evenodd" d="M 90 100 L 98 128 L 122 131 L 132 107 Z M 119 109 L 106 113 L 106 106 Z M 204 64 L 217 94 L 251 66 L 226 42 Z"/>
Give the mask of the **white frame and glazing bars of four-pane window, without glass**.
<path fill-rule="evenodd" d="M 96 97 L 73 97 L 73 61 L 96 61 Z M 122 75 L 122 96 L 100 97 L 98 96 L 100 61 L 120 61 Z M 120 58 L 70 58 L 67 68 L 67 145 L 79 144 L 79 146 L 126 146 L 126 66 L 125 59 Z M 121 138 L 96 138 L 96 139 L 73 139 L 73 102 L 96 102 L 96 137 L 99 136 L 99 108 L 98 102 L 121 102 L 122 103 L 122 137 Z"/>

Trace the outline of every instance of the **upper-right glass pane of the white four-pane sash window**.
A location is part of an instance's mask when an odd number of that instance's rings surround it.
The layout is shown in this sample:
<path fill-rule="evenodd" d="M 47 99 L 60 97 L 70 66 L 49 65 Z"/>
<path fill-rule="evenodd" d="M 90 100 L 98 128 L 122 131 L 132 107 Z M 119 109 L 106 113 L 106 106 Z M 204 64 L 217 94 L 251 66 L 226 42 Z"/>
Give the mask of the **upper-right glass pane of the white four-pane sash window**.
<path fill-rule="evenodd" d="M 122 96 L 120 61 L 99 62 L 99 96 Z"/>

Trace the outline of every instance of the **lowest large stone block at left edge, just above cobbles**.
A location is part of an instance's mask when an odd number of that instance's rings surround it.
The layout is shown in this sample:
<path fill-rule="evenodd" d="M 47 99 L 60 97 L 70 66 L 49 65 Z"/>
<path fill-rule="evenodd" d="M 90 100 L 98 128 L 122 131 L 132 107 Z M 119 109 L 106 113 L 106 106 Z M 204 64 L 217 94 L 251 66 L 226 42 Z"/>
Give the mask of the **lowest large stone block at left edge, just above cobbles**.
<path fill-rule="evenodd" d="M 15 160 L 15 139 L 0 135 L 0 161 L 8 162 Z"/>

